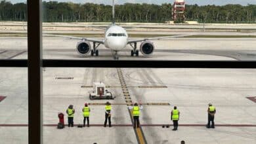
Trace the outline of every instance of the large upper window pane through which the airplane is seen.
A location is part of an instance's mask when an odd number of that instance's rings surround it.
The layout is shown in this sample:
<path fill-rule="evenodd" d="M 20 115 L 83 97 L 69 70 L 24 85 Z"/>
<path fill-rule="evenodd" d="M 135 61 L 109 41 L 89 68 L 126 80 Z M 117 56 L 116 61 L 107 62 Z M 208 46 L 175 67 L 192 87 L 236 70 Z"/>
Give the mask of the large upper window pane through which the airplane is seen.
<path fill-rule="evenodd" d="M 194 7 L 201 2 L 188 5 L 186 1 L 146 0 L 128 5 L 127 1 L 116 1 L 116 25 L 112 26 L 111 1 L 68 2 L 43 1 L 43 33 L 51 34 L 43 37 L 44 58 L 113 60 L 117 57 L 113 58 L 111 50 L 118 47 L 119 60 L 256 60 L 253 5 L 230 7 L 212 2 L 212 7 Z M 202 10 L 201 15 L 195 15 L 197 9 Z M 240 16 L 226 12 L 230 9 L 238 10 Z M 129 37 L 123 44 L 108 41 L 104 35 L 108 31 L 115 31 L 116 39 L 123 31 Z M 81 49 L 83 38 L 87 38 L 87 46 Z M 143 43 L 144 39 L 148 43 Z M 94 42 L 100 44 L 95 50 Z M 135 43 L 137 48 L 131 46 Z"/>

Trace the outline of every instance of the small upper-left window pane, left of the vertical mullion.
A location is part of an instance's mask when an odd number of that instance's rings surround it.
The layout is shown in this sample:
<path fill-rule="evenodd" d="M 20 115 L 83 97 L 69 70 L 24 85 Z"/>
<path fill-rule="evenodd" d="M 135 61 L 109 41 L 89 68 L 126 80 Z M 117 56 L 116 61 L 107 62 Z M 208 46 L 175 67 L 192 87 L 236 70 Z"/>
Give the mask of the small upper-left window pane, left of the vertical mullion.
<path fill-rule="evenodd" d="M 0 59 L 28 59 L 25 1 L 0 1 Z"/>

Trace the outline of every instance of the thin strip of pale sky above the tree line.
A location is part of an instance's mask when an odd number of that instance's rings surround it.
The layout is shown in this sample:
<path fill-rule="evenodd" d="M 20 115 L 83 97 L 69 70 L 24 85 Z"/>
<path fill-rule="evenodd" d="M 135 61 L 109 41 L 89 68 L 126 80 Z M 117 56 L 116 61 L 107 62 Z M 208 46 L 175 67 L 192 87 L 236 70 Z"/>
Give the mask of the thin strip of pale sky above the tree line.
<path fill-rule="evenodd" d="M 1 0 L 0 0 L 1 1 Z M 11 1 L 11 3 L 24 3 L 26 0 L 6 0 Z M 42 0 L 42 1 L 59 1 L 67 2 L 72 1 L 73 3 L 104 3 L 110 5 L 111 0 Z M 174 0 L 116 0 L 117 4 L 123 3 L 154 3 L 161 5 L 161 3 L 173 3 Z M 226 5 L 226 4 L 240 4 L 247 5 L 253 4 L 256 5 L 256 0 L 185 0 L 188 5 Z"/>

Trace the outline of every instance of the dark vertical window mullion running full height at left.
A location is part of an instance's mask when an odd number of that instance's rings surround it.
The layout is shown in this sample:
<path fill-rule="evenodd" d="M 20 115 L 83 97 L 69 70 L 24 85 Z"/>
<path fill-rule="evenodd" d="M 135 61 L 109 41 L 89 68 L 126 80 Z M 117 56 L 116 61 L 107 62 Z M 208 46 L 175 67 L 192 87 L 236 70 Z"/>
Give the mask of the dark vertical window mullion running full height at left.
<path fill-rule="evenodd" d="M 28 143 L 42 141 L 41 0 L 28 0 Z"/>

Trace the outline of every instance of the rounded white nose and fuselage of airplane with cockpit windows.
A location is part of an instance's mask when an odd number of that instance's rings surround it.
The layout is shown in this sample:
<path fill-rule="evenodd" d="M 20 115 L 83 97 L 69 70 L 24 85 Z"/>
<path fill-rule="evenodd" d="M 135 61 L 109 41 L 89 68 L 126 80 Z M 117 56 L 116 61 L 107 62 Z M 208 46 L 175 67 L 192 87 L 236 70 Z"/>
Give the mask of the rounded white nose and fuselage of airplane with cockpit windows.
<path fill-rule="evenodd" d="M 119 51 L 125 48 L 127 43 L 128 34 L 123 27 L 113 24 L 106 28 L 104 37 L 104 45 L 106 48 Z"/>

